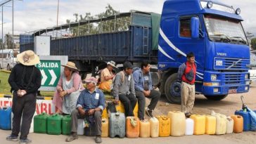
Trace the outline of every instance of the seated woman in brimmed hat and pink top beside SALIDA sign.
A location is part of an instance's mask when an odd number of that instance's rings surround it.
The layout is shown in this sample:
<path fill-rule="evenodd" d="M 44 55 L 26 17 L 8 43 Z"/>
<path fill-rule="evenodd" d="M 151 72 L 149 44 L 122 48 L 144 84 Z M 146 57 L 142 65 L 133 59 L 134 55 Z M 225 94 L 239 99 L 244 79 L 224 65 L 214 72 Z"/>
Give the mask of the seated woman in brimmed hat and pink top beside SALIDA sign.
<path fill-rule="evenodd" d="M 61 66 L 64 67 L 64 72 L 60 75 L 60 80 L 53 96 L 53 104 L 57 107 L 56 113 L 71 114 L 76 107 L 77 98 L 84 86 L 75 63 L 68 62 L 67 65 Z"/>

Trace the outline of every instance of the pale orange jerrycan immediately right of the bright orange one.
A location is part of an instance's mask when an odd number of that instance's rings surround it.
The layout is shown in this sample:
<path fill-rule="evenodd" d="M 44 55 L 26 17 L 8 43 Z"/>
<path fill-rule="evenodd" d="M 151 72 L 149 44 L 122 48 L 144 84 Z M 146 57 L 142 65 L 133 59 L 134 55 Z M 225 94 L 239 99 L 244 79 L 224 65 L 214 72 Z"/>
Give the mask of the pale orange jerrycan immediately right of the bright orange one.
<path fill-rule="evenodd" d="M 139 122 L 139 137 L 149 138 L 151 137 L 151 123 L 147 119 Z"/>

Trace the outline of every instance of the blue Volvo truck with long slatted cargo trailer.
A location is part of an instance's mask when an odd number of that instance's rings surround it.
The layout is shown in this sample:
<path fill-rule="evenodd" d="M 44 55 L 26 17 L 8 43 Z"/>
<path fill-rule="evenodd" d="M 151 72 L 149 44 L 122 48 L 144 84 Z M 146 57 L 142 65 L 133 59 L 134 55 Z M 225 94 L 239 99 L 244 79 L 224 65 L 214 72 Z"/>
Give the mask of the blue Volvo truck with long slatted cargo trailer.
<path fill-rule="evenodd" d="M 154 85 L 170 103 L 180 103 L 177 71 L 186 62 L 186 53 L 193 52 L 197 64 L 196 93 L 210 100 L 222 100 L 230 93 L 250 89 L 250 48 L 240 12 L 239 8 L 217 1 L 167 0 L 160 17 L 139 11 L 121 13 L 119 16 L 130 15 L 129 30 L 53 39 L 51 55 L 69 55 L 69 60 L 84 72 L 95 72 L 102 61 L 130 60 L 136 64 L 151 60 L 158 64 L 157 72 L 153 71 Z M 47 31 L 51 29 L 34 35 Z M 32 46 L 20 45 L 20 51 Z"/>

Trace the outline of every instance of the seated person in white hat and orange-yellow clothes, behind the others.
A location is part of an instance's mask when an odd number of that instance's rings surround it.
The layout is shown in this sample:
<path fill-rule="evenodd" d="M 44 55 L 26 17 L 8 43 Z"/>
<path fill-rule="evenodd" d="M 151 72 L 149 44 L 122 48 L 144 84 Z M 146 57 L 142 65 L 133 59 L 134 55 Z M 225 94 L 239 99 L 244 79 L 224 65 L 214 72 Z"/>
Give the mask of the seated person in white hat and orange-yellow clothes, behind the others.
<path fill-rule="evenodd" d="M 112 84 L 112 79 L 115 77 L 113 73 L 113 67 L 115 67 L 115 62 L 112 60 L 107 63 L 107 67 L 101 71 L 101 84 L 98 86 L 99 89 L 105 91 L 110 91 L 110 86 Z"/>

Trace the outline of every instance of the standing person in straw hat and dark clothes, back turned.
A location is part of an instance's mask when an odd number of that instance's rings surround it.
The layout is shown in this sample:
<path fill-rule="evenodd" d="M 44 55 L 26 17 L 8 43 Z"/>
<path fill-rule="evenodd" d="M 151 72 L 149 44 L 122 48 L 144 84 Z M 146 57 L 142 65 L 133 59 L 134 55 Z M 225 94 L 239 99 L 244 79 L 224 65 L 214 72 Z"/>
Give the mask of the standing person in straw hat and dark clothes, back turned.
<path fill-rule="evenodd" d="M 30 124 L 36 111 L 37 91 L 41 86 L 41 72 L 35 67 L 39 57 L 34 51 L 24 51 L 17 55 L 18 64 L 13 67 L 8 79 L 13 93 L 13 129 L 6 140 L 17 141 L 20 133 L 20 143 L 32 141 L 27 139 Z M 23 122 L 20 127 L 21 117 Z"/>

